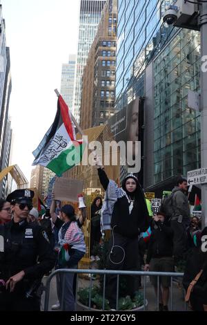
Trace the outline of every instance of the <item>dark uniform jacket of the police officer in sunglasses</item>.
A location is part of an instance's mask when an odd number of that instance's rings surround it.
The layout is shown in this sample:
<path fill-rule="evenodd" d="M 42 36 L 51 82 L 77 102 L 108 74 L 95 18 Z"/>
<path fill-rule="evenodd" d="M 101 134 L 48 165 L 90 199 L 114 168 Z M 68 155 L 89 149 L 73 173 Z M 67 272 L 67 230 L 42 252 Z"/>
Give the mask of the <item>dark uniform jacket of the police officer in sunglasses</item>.
<path fill-rule="evenodd" d="M 26 283 L 30 286 L 55 265 L 55 254 L 48 236 L 39 225 L 10 221 L 0 226 L 0 235 L 4 239 L 4 252 L 0 253 L 0 279 L 7 281 L 21 270 L 25 272 L 15 290 Z"/>

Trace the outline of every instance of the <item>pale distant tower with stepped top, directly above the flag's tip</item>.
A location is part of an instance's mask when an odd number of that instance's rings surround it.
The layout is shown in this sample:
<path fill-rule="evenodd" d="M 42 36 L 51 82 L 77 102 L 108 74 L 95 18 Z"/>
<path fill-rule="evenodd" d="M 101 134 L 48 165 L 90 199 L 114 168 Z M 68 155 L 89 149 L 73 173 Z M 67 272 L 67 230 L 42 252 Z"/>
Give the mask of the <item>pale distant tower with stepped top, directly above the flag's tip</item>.
<path fill-rule="evenodd" d="M 71 110 L 75 86 L 75 63 L 76 56 L 70 54 L 68 64 L 62 65 L 61 73 L 61 95 Z"/>

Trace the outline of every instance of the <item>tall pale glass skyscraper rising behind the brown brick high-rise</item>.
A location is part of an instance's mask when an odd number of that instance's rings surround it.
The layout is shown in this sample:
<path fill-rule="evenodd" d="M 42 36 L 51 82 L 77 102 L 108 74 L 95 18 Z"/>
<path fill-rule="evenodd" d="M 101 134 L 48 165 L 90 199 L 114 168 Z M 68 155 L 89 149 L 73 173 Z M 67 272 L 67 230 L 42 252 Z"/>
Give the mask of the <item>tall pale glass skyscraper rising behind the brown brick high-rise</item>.
<path fill-rule="evenodd" d="M 72 105 L 72 113 L 77 122 L 79 122 L 81 108 L 83 68 L 86 65 L 90 46 L 97 33 L 101 12 L 105 2 L 105 0 L 81 0 L 75 80 L 75 100 L 74 104 Z"/>

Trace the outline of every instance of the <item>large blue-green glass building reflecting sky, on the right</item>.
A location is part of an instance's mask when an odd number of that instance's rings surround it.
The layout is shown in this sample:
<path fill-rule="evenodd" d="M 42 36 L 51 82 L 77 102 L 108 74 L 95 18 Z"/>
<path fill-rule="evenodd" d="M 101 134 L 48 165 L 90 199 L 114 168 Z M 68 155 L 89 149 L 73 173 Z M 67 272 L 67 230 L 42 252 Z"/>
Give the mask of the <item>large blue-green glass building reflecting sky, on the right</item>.
<path fill-rule="evenodd" d="M 144 187 L 200 166 L 199 32 L 168 26 L 171 1 L 120 0 L 117 26 L 116 109 L 144 97 Z"/>

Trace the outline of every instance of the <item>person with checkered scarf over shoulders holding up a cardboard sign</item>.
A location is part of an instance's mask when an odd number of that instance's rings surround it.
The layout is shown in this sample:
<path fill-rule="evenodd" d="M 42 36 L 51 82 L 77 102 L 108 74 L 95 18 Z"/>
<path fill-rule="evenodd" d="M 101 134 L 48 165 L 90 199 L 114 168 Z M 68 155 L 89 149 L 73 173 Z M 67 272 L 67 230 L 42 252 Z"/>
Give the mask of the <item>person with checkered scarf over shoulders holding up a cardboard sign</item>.
<path fill-rule="evenodd" d="M 50 206 L 50 214 L 55 227 L 59 229 L 59 253 L 57 259 L 58 268 L 77 268 L 78 262 L 86 253 L 86 243 L 83 232 L 79 228 L 79 221 L 76 220 L 75 210 L 72 205 L 61 207 L 61 219 L 55 214 L 55 200 Z M 64 281 L 64 293 L 62 306 L 63 310 L 75 310 L 75 297 L 73 293 L 74 273 L 67 273 Z M 63 275 L 57 277 L 57 295 L 59 301 L 52 309 L 59 309 L 63 292 Z"/>

